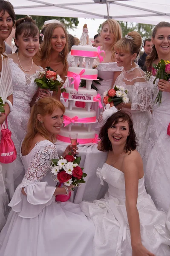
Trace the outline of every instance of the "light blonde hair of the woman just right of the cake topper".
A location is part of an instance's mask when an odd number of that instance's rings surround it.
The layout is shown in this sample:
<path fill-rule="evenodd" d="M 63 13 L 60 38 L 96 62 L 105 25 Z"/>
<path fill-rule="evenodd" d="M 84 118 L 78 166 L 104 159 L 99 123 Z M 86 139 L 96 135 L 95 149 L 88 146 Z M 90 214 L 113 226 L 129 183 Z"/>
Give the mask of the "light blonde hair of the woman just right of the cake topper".
<path fill-rule="evenodd" d="M 112 33 L 113 35 L 113 38 L 114 38 L 114 41 L 111 45 L 111 52 L 113 52 L 112 54 L 112 59 L 114 58 L 115 56 L 115 44 L 118 40 L 121 39 L 122 37 L 122 32 L 121 32 L 121 26 L 120 24 L 117 22 L 117 20 L 114 20 L 114 19 L 108 19 L 106 21 L 104 21 L 104 23 L 102 23 L 101 25 L 101 31 L 103 30 L 104 28 L 104 25 L 108 24 L 109 25 L 109 30 L 110 32 Z M 101 33 L 101 32 L 100 32 Z"/>

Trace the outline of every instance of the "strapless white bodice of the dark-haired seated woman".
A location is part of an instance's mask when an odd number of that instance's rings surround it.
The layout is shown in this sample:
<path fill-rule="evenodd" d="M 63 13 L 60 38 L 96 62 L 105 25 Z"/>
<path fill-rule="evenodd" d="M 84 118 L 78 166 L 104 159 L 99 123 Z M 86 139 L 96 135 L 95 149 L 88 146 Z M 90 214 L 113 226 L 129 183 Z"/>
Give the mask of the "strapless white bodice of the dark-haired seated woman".
<path fill-rule="evenodd" d="M 125 200 L 125 180 L 124 173 L 120 170 L 116 169 L 113 166 L 104 163 L 102 168 L 97 169 L 97 176 L 101 180 L 101 184 L 103 185 L 103 180 L 108 183 L 108 195 L 114 198 L 120 198 Z M 144 177 L 141 178 L 138 182 L 138 198 L 146 193 L 144 186 Z"/>

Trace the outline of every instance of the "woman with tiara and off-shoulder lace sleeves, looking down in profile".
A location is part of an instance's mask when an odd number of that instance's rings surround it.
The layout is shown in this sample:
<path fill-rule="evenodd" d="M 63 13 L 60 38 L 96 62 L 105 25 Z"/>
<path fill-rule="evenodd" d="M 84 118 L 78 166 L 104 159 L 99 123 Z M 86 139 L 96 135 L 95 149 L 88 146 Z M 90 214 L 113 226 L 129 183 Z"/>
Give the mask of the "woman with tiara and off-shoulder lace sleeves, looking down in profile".
<path fill-rule="evenodd" d="M 129 32 L 124 38 L 115 44 L 115 59 L 119 67 L 123 67 L 121 75 L 115 81 L 115 85 L 124 87 L 128 93 L 130 102 L 121 103 L 117 107 L 128 111 L 133 119 L 133 128 L 138 140 L 137 150 L 141 154 L 144 137 L 151 119 L 152 91 L 146 75 L 135 64 L 142 44 L 141 35 L 138 32 Z"/>

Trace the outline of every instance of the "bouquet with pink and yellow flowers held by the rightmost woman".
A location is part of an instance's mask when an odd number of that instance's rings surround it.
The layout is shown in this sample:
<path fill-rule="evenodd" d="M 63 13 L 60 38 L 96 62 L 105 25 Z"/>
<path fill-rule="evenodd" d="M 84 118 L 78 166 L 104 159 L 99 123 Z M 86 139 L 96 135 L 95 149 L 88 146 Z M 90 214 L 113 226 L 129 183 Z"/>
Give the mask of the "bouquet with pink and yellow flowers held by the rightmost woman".
<path fill-rule="evenodd" d="M 170 61 L 164 61 L 161 59 L 161 61 L 158 63 L 158 65 L 153 64 L 152 68 L 152 74 L 153 76 L 156 76 L 156 78 L 153 81 L 153 84 L 155 84 L 156 79 L 164 79 L 168 81 L 170 79 Z M 155 102 L 160 106 L 162 102 L 162 91 L 159 91 Z"/>

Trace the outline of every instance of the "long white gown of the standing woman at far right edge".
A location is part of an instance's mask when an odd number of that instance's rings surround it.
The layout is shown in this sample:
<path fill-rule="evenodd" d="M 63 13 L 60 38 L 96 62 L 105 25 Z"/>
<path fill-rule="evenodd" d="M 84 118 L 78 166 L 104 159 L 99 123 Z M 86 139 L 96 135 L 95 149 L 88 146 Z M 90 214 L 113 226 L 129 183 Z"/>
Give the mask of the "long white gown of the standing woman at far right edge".
<path fill-rule="evenodd" d="M 157 83 L 153 87 L 153 102 L 158 93 Z M 167 127 L 170 123 L 170 93 L 162 93 L 162 104 L 153 104 L 153 113 L 144 141 L 145 185 L 156 207 L 165 212 L 170 207 L 170 136 Z"/>

